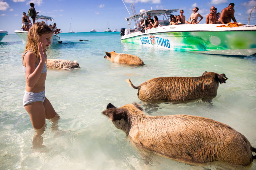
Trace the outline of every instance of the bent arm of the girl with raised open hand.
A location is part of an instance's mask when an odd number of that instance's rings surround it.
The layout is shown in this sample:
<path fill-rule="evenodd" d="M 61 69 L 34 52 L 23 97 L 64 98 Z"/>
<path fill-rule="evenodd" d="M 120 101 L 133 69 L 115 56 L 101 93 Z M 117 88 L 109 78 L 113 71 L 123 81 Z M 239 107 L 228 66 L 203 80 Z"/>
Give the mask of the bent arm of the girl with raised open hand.
<path fill-rule="evenodd" d="M 36 63 L 36 56 L 33 53 L 27 53 L 25 63 L 26 63 L 26 84 L 30 87 L 33 88 L 35 84 L 38 82 L 42 70 L 45 65 L 46 61 L 46 55 L 44 53 L 44 49 L 42 48 L 43 44 L 39 43 L 38 49 L 39 49 L 39 56 L 40 56 L 40 62 L 35 68 L 35 63 Z M 24 56 L 25 57 L 25 56 Z"/>

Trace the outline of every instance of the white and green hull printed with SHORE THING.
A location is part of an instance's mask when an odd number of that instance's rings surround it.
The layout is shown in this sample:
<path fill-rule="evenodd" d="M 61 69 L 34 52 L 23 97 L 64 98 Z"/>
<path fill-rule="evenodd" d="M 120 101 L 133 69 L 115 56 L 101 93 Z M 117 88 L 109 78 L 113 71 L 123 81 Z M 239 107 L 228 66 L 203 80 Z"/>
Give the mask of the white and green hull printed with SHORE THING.
<path fill-rule="evenodd" d="M 184 29 L 186 25 L 181 25 L 183 26 L 181 31 L 176 29 L 180 25 L 158 27 L 149 29 L 145 33 L 135 32 L 124 35 L 121 38 L 121 42 L 129 42 L 152 48 L 216 55 L 245 57 L 256 53 L 256 30 L 250 28 L 216 29 L 216 24 L 200 25 L 205 27 L 215 25 L 215 27 L 211 26 L 211 30 L 205 29 L 200 31 L 198 31 L 198 27 L 193 29 L 193 26 L 191 27 L 190 25 L 188 25 L 190 31 Z M 168 31 L 172 28 L 175 30 Z"/>

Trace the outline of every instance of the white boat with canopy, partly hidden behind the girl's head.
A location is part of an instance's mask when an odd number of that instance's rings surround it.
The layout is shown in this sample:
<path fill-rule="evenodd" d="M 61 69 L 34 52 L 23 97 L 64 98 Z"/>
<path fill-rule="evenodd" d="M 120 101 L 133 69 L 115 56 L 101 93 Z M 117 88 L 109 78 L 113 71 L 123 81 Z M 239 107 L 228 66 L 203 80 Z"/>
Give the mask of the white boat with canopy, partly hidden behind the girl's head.
<path fill-rule="evenodd" d="M 37 15 L 36 16 L 36 22 L 38 22 L 38 20 L 44 20 L 45 24 L 47 24 L 47 25 L 48 25 L 47 21 L 49 20 L 49 21 L 52 21 L 52 25 L 53 25 L 53 18 L 52 17 L 48 17 L 48 16 L 44 16 L 44 15 Z M 14 32 L 21 38 L 23 44 L 26 44 L 28 31 L 15 30 Z M 51 43 L 61 43 L 61 42 L 62 41 L 60 41 L 60 36 L 58 36 L 57 34 L 52 35 Z"/>

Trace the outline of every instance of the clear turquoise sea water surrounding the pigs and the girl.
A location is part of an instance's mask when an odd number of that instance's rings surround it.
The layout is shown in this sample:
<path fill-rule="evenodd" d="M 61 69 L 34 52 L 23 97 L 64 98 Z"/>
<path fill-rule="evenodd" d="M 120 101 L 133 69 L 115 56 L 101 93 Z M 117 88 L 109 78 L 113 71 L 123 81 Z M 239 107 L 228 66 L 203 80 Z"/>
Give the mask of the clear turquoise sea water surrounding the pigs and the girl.
<path fill-rule="evenodd" d="M 21 54 L 25 45 L 16 34 L 0 43 L 0 169 L 218 169 L 223 163 L 191 166 L 160 156 L 145 166 L 123 131 L 101 114 L 108 103 L 121 107 L 137 102 L 148 115 L 188 114 L 208 117 L 242 133 L 256 147 L 256 57 L 205 55 L 151 49 L 120 42 L 120 33 L 61 33 L 51 58 L 77 60 L 80 69 L 47 71 L 46 97 L 61 119 L 58 130 L 47 128 L 42 149 L 31 149 L 35 131 L 22 100 L 25 73 Z M 78 40 L 89 40 L 79 42 Z M 104 59 L 104 51 L 133 54 L 146 64 L 131 67 Z M 137 86 L 162 76 L 200 76 L 204 71 L 225 73 L 213 104 L 146 103 Z M 255 153 L 253 153 L 255 154 Z M 237 167 L 241 168 L 241 167 Z M 256 161 L 246 167 L 256 169 Z"/>

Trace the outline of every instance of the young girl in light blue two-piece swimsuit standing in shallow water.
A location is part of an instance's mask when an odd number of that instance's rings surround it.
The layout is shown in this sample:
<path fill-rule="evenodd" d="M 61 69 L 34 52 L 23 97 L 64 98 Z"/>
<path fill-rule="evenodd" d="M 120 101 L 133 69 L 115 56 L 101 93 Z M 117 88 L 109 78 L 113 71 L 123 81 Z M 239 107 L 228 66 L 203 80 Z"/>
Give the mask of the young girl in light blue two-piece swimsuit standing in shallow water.
<path fill-rule="evenodd" d="M 25 54 L 23 55 L 23 69 L 26 73 L 26 90 L 23 105 L 30 116 L 34 129 L 37 129 L 34 144 L 42 143 L 45 119 L 58 120 L 50 101 L 45 97 L 46 80 L 46 51 L 51 44 L 52 30 L 48 25 L 37 22 L 28 32 Z M 49 54 L 49 52 L 48 52 Z"/>

